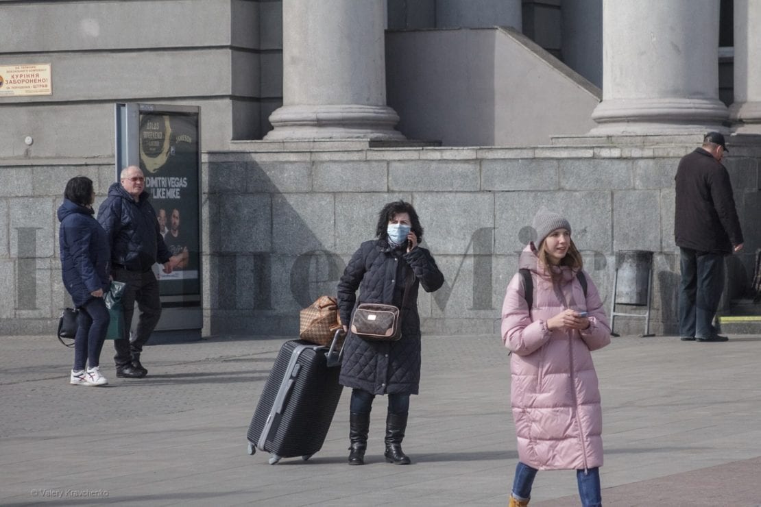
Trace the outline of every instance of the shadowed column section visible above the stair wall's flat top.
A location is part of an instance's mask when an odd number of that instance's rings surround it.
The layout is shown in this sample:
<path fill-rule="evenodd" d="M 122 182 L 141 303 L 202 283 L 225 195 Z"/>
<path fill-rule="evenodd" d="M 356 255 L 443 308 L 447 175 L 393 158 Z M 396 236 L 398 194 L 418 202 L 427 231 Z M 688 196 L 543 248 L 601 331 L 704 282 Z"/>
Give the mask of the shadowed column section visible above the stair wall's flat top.
<path fill-rule="evenodd" d="M 436 0 L 436 27 L 523 29 L 521 0 Z"/>

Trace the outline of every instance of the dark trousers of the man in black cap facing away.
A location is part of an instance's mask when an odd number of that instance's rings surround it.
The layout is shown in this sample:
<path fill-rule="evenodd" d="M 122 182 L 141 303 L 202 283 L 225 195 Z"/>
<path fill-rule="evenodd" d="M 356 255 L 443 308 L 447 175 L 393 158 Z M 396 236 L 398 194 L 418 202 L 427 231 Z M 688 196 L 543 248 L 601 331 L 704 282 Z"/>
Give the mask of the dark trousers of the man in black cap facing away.
<path fill-rule="evenodd" d="M 685 337 L 710 338 L 724 290 L 724 255 L 680 248 L 679 332 Z"/>

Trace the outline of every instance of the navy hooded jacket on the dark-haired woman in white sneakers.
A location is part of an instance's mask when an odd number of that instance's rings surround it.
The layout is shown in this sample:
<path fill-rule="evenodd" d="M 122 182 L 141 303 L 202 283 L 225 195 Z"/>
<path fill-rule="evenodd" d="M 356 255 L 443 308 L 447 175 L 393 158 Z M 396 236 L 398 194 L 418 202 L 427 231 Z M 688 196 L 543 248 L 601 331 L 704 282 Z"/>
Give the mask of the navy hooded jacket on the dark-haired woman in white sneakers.
<path fill-rule="evenodd" d="M 92 292 L 106 292 L 109 280 L 109 261 L 106 231 L 100 227 L 91 208 L 84 208 L 68 199 L 58 208 L 59 246 L 63 285 L 72 295 L 75 306 L 91 299 Z"/>

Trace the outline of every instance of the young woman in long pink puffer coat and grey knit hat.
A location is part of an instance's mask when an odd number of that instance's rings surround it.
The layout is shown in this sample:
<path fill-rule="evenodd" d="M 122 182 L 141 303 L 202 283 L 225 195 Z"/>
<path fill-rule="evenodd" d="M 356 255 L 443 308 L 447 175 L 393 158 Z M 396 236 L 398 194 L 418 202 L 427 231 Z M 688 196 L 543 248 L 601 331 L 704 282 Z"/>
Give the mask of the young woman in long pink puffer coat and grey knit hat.
<path fill-rule="evenodd" d="M 520 459 L 510 505 L 528 504 L 539 470 L 576 470 L 582 505 L 602 505 L 603 417 L 591 351 L 610 344 L 610 326 L 568 220 L 542 208 L 533 228 L 538 247 L 530 242 L 519 261 L 533 280 L 533 305 L 518 273 L 501 315 Z"/>

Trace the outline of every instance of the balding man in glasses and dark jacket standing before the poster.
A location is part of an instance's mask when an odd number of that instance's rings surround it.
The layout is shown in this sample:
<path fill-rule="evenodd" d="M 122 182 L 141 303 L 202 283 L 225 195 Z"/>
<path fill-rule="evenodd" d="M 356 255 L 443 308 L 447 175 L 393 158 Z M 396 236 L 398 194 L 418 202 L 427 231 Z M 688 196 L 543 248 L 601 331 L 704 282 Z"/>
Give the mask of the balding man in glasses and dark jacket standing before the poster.
<path fill-rule="evenodd" d="M 111 276 L 127 284 L 122 296 L 125 336 L 113 341 L 117 377 L 140 379 L 148 375 L 140 363 L 140 354 L 161 317 L 158 280 L 152 268 L 156 261 L 161 261 L 164 273 L 171 273 L 177 265 L 177 258 L 171 257 L 164 245 L 149 197 L 142 170 L 129 166 L 122 171 L 119 182 L 110 186 L 108 198 L 98 209 L 97 220 L 106 230 L 111 248 Z M 135 312 L 135 300 L 140 317 L 130 342 L 129 323 Z"/>

